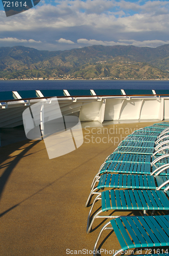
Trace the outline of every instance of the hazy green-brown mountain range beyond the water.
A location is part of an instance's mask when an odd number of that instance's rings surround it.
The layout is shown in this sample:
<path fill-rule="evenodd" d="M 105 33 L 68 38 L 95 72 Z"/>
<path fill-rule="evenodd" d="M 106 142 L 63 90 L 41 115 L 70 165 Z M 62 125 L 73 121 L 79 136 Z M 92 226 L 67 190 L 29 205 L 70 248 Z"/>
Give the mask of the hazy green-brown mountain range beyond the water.
<path fill-rule="evenodd" d="M 82 78 L 169 78 L 169 45 L 90 46 L 65 51 L 0 48 L 0 76 Z"/>

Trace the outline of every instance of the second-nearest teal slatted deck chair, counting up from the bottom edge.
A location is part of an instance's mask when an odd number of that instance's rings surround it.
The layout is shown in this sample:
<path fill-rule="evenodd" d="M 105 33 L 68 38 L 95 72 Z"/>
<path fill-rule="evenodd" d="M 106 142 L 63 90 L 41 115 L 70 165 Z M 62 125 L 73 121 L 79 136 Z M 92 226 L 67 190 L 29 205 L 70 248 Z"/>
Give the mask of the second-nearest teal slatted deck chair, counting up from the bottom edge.
<path fill-rule="evenodd" d="M 165 189 L 168 189 L 169 186 Z M 165 190 L 164 189 L 164 190 Z M 107 215 L 107 211 L 114 210 L 169 210 L 169 191 L 164 190 L 106 190 L 94 200 L 88 215 L 87 233 L 97 218 L 118 218 L 120 216 Z M 91 219 L 91 214 L 96 201 L 101 200 L 101 209 Z M 100 215 L 106 212 L 106 215 Z"/>

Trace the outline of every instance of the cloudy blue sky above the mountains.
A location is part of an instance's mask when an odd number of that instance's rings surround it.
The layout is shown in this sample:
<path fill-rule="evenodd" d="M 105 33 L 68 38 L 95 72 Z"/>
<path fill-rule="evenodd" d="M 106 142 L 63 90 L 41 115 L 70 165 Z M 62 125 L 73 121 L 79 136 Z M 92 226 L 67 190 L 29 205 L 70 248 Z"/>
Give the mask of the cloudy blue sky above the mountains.
<path fill-rule="evenodd" d="M 91 45 L 169 44 L 169 1 L 41 0 L 6 17 L 0 3 L 0 47 L 68 50 Z"/>

